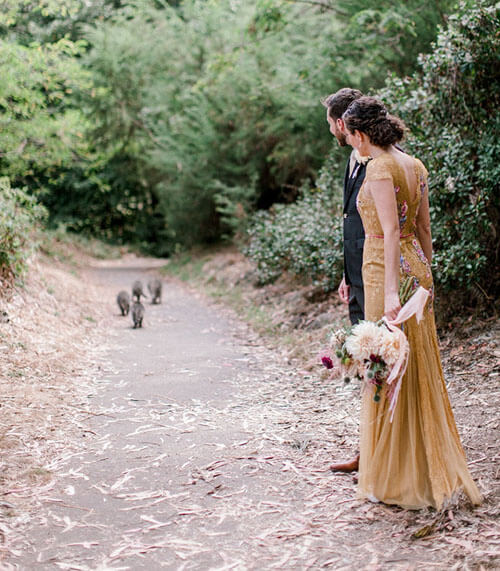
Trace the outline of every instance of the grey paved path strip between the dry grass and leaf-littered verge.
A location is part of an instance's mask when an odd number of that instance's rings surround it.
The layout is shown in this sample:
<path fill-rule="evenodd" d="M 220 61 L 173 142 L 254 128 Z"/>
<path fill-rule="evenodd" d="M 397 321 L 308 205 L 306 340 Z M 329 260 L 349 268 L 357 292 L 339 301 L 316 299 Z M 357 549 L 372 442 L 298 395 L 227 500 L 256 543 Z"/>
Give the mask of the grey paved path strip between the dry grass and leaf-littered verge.
<path fill-rule="evenodd" d="M 152 273 L 112 264 L 90 275 L 112 296 Z M 279 471 L 244 410 L 263 375 L 247 330 L 238 335 L 238 324 L 171 283 L 161 305 L 144 303 L 143 329 L 130 316 L 113 321 L 118 347 L 83 423 L 85 449 L 60 466 L 21 568 L 264 564 L 246 543 L 256 525 L 279 521 L 273 502 L 286 494 L 268 479 Z"/>

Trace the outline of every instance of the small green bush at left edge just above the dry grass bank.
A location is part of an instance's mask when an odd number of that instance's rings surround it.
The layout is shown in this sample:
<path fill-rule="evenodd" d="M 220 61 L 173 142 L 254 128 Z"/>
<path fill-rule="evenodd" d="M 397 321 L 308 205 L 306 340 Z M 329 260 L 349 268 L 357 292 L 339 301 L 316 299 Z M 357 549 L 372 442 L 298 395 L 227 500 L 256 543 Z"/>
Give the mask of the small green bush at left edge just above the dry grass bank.
<path fill-rule="evenodd" d="M 11 188 L 0 178 L 0 277 L 12 282 L 22 275 L 36 245 L 33 229 L 46 217 L 46 210 L 24 190 Z"/>

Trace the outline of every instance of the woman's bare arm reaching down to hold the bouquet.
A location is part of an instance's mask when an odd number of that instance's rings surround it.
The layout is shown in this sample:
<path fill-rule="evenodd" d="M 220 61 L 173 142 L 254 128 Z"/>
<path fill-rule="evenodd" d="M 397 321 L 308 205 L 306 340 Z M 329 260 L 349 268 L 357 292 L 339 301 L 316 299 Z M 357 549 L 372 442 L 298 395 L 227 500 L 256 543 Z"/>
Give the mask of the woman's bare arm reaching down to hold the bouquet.
<path fill-rule="evenodd" d="M 377 209 L 378 218 L 384 232 L 384 311 L 388 319 L 394 319 L 401 309 L 399 301 L 399 219 L 390 179 L 369 181 L 369 190 Z"/>

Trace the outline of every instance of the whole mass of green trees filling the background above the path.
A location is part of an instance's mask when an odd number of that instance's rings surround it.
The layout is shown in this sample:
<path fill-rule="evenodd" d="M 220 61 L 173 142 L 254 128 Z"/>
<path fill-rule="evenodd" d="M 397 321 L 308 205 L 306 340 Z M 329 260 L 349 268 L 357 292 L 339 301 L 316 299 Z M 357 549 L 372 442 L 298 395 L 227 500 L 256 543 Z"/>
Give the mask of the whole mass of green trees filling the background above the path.
<path fill-rule="evenodd" d="M 295 201 L 332 145 L 320 98 L 413 69 L 450 2 L 3 4 L 27 105 L 4 87 L 6 172 L 43 191 L 52 221 L 165 253 Z M 28 54 L 50 83 L 24 77 Z"/>

